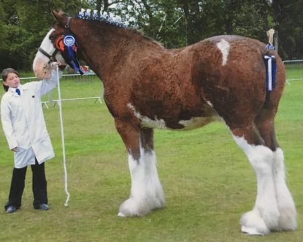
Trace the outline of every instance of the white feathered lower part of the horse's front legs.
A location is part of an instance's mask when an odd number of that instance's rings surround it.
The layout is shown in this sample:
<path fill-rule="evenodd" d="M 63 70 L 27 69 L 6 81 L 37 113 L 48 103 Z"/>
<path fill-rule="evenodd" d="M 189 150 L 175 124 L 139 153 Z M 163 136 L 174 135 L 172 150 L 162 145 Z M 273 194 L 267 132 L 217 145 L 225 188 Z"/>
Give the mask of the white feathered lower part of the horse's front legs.
<path fill-rule="evenodd" d="M 144 216 L 165 205 L 165 196 L 157 171 L 154 151 L 145 152 L 140 142 L 140 158 L 128 154 L 131 194 L 119 209 L 118 216 Z"/>

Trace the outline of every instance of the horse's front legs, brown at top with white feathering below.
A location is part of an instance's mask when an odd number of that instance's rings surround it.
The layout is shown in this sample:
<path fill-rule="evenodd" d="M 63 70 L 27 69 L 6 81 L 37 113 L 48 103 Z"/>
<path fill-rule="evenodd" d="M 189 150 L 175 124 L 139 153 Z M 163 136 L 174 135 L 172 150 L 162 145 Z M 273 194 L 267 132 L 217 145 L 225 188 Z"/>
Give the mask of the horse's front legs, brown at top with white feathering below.
<path fill-rule="evenodd" d="M 127 148 L 131 175 L 130 197 L 120 206 L 118 216 L 144 216 L 165 205 L 153 139 L 150 139 L 153 130 L 142 131 L 137 125 L 121 119 L 115 119 L 115 125 Z"/>

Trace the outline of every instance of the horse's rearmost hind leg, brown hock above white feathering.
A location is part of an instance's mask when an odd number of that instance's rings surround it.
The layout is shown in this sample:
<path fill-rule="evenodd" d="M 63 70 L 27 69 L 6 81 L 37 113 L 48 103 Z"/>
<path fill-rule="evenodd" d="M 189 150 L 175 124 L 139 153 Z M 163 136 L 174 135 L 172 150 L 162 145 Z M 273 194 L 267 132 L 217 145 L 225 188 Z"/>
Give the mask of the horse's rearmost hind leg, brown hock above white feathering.
<path fill-rule="evenodd" d="M 275 138 L 273 116 L 268 109 L 263 109 L 256 117 L 255 123 L 266 146 L 273 150 L 273 174 L 278 209 L 280 212 L 277 226 L 271 230 L 296 229 L 296 210 L 291 194 L 285 182 L 284 155 Z"/>

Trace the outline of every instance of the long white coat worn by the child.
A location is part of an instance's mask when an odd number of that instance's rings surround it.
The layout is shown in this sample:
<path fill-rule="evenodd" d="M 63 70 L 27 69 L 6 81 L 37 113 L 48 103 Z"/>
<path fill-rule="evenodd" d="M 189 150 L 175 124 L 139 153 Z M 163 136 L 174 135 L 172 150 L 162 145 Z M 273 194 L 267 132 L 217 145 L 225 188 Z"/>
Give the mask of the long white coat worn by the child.
<path fill-rule="evenodd" d="M 62 72 L 60 72 L 60 77 Z M 55 156 L 51 139 L 46 130 L 41 97 L 57 86 L 57 72 L 52 70 L 48 80 L 19 85 L 21 96 L 16 88 L 9 88 L 1 101 L 1 119 L 9 148 L 17 148 L 15 167 L 22 168 L 39 164 Z"/>

